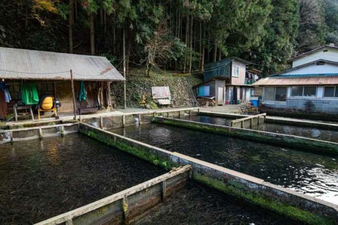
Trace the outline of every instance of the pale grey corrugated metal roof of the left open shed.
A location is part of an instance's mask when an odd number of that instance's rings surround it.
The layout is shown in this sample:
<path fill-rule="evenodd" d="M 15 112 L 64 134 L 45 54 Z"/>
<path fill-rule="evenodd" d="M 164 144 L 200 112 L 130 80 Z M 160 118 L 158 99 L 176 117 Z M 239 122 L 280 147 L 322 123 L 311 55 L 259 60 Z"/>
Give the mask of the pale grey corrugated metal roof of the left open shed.
<path fill-rule="evenodd" d="M 0 78 L 124 81 L 105 57 L 0 47 Z"/>

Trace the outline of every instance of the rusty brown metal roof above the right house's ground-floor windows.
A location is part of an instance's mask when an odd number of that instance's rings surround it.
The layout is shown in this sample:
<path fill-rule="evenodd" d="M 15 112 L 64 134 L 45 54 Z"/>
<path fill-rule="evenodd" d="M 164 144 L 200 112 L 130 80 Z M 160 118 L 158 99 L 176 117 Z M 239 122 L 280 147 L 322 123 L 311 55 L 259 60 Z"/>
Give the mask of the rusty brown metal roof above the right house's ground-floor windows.
<path fill-rule="evenodd" d="M 338 76 L 272 78 L 260 79 L 253 86 L 290 86 L 290 85 L 338 85 Z"/>

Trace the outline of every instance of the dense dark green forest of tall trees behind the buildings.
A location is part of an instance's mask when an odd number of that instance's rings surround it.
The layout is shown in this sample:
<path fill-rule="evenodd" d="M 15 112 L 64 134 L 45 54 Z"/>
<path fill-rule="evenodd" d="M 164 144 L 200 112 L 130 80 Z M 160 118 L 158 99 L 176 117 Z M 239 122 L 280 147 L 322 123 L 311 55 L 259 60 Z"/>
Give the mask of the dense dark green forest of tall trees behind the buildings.
<path fill-rule="evenodd" d="M 0 46 L 198 73 L 237 56 L 270 75 L 338 45 L 338 0 L 0 0 Z"/>

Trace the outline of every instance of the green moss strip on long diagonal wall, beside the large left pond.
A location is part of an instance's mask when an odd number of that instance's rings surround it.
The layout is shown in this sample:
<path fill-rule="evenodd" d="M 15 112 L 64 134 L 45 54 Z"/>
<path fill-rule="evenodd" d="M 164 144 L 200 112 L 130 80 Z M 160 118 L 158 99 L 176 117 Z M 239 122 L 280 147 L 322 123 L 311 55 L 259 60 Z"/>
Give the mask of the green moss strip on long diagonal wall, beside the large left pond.
<path fill-rule="evenodd" d="M 162 157 L 158 154 L 152 153 L 151 151 L 145 148 L 138 148 L 133 145 L 121 142 L 119 140 L 114 141 L 111 139 L 111 136 L 100 135 L 92 131 L 84 131 L 84 134 L 93 137 L 103 143 L 106 143 L 110 146 L 113 146 L 123 152 L 127 152 L 133 156 L 144 159 L 148 162 L 151 162 L 154 165 L 161 166 L 166 170 L 171 170 L 174 167 L 179 167 L 180 165 L 172 162 L 169 158 Z"/>

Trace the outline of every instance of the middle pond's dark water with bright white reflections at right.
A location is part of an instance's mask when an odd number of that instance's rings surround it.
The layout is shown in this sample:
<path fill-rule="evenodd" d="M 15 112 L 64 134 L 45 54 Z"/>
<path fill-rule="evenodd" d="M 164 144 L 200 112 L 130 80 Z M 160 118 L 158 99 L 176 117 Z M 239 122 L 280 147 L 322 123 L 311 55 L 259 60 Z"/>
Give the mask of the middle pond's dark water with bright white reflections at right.
<path fill-rule="evenodd" d="M 338 157 L 155 123 L 111 131 L 338 204 Z"/>

